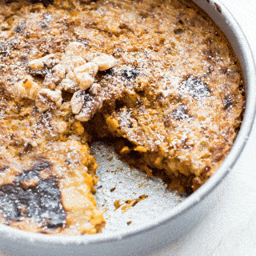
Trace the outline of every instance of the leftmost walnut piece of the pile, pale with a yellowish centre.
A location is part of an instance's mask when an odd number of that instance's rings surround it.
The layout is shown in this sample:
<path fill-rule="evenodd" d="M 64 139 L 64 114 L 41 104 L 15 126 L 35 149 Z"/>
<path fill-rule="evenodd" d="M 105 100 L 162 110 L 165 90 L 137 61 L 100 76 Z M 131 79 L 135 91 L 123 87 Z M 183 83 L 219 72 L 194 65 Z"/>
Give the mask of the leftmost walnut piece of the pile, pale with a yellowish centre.
<path fill-rule="evenodd" d="M 38 91 L 41 89 L 38 83 L 34 82 L 30 75 L 27 75 L 21 82 L 15 84 L 14 87 L 22 98 L 30 98 L 32 100 L 35 99 Z"/>

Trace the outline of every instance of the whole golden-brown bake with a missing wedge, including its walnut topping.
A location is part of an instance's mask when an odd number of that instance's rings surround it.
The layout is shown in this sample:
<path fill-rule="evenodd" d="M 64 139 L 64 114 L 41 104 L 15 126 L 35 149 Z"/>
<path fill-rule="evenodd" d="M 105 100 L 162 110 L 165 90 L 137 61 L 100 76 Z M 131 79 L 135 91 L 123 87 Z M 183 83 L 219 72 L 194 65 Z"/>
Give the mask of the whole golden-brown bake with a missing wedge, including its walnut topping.
<path fill-rule="evenodd" d="M 0 2 L 0 219 L 94 234 L 90 143 L 178 192 L 229 153 L 245 106 L 222 31 L 190 1 Z"/>

